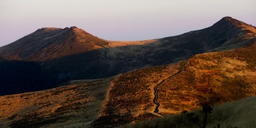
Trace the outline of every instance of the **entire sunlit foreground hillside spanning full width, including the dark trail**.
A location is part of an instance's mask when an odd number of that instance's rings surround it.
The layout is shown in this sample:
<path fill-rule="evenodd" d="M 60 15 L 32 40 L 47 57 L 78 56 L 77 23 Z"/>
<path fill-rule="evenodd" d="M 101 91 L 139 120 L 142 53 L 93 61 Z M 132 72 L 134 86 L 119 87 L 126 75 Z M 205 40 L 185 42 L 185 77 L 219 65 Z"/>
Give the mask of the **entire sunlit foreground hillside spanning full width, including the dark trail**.
<path fill-rule="evenodd" d="M 69 81 L 51 90 L 5 95 L 0 97 L 0 126 L 117 127 L 158 117 L 161 118 L 154 121 L 156 125 L 162 117 L 182 122 L 184 115 L 169 115 L 199 109 L 203 104 L 217 106 L 255 95 L 255 49 L 256 42 L 235 50 L 197 54 L 171 65 L 103 79 Z M 237 126 L 222 121 L 233 121 L 237 113 L 250 113 L 247 110 L 252 110 L 250 103 L 254 100 L 242 101 L 246 101 L 243 105 L 248 109 L 241 109 L 241 102 L 239 107 L 236 103 L 217 108 L 230 112 L 227 117 L 215 115 L 213 109 L 211 126 Z M 229 107 L 235 110 L 225 110 Z M 252 117 L 242 117 L 246 118 L 239 118 L 241 122 L 254 122 Z"/>

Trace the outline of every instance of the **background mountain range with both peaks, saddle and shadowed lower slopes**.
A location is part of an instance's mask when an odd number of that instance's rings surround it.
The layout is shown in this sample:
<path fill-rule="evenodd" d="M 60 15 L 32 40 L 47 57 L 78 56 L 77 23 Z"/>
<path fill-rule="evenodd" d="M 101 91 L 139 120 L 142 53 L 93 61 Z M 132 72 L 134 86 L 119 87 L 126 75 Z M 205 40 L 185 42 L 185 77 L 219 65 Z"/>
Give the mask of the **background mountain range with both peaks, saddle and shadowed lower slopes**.
<path fill-rule="evenodd" d="M 77 27 L 38 29 L 0 47 L 0 55 L 9 62 L 33 63 L 38 71 L 34 75 L 30 73 L 31 76 L 41 77 L 41 81 L 51 79 L 51 82 L 44 84 L 20 78 L 10 83 L 9 79 L 27 76 L 27 73 L 20 71 L 16 74 L 17 68 L 5 68 L 3 64 L 2 79 L 7 82 L 1 83 L 1 95 L 51 89 L 69 80 L 105 78 L 143 67 L 178 62 L 198 53 L 248 46 L 255 41 L 255 31 L 255 27 L 230 17 L 202 30 L 137 42 L 106 41 Z M 19 67 L 18 62 L 14 63 L 13 67 Z M 21 69 L 27 70 L 30 66 L 24 64 Z M 10 85 L 14 88 L 29 86 L 30 89 L 8 90 L 6 86 Z"/>

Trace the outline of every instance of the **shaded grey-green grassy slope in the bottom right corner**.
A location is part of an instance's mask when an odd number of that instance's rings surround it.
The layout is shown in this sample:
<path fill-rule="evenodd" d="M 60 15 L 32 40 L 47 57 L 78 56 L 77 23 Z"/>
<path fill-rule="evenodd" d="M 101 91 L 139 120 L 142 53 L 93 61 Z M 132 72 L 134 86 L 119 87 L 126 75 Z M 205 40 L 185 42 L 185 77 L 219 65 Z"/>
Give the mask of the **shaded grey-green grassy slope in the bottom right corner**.
<path fill-rule="evenodd" d="M 224 103 L 213 107 L 207 116 L 206 127 L 256 127 L 255 117 L 256 97 L 249 97 L 239 101 Z M 203 110 L 190 111 L 199 116 L 199 125 L 204 121 Z M 122 127 L 199 127 L 186 114 L 171 115 L 151 119 Z"/>

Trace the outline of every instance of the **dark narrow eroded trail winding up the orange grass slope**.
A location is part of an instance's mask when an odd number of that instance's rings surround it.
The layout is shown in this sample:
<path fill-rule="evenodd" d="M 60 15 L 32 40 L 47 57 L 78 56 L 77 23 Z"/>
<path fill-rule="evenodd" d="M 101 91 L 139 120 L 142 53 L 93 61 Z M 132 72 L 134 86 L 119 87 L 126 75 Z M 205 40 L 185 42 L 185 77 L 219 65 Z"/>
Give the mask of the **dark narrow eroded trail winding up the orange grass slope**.
<path fill-rule="evenodd" d="M 157 99 L 158 99 L 158 90 L 157 90 L 157 88 L 158 88 L 158 86 L 161 85 L 161 84 L 163 84 L 163 83 L 166 81 L 166 79 L 169 79 L 169 78 L 171 78 L 171 77 L 173 77 L 173 76 L 175 76 L 175 75 L 181 73 L 182 71 L 184 71 L 184 70 L 186 69 L 186 66 L 185 66 L 185 65 L 186 65 L 186 61 L 183 60 L 182 62 L 180 62 L 180 69 L 179 69 L 179 71 L 178 71 L 177 73 L 175 73 L 175 74 L 173 74 L 172 76 L 169 76 L 169 77 L 163 79 L 163 81 L 161 81 L 159 84 L 157 84 L 157 85 L 154 87 L 154 95 L 155 95 L 155 98 L 153 99 L 153 102 L 156 104 L 156 108 L 155 108 L 155 110 L 154 110 L 154 113 L 158 113 L 158 111 L 159 111 L 158 108 L 159 108 L 159 106 L 160 106 L 160 103 L 157 102 Z"/>

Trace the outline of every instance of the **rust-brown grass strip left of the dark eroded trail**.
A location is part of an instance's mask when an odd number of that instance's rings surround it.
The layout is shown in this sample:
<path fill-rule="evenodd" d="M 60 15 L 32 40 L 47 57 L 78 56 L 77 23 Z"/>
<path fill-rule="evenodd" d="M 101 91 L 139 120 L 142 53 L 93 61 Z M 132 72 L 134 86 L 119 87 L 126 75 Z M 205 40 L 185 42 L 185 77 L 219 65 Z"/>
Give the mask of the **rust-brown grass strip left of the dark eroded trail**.
<path fill-rule="evenodd" d="M 177 73 L 175 65 L 150 67 L 121 74 L 111 84 L 100 117 L 95 126 L 102 127 L 142 121 L 161 115 L 155 110 L 154 87 L 163 79 Z"/>

